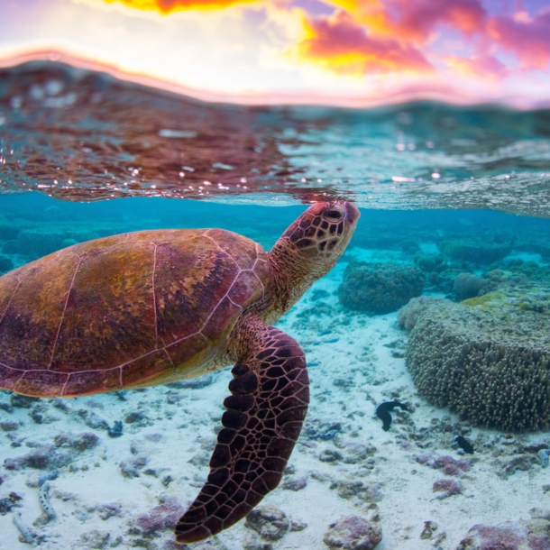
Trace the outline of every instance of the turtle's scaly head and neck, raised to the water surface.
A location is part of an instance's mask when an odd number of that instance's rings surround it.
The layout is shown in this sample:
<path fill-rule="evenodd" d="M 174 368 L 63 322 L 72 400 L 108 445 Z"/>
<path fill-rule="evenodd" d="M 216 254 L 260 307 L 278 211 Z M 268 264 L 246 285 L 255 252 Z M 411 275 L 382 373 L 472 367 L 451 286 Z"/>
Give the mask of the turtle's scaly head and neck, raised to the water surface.
<path fill-rule="evenodd" d="M 286 311 L 334 266 L 350 242 L 360 212 L 351 202 L 318 202 L 289 226 L 270 252 L 272 272 Z"/>

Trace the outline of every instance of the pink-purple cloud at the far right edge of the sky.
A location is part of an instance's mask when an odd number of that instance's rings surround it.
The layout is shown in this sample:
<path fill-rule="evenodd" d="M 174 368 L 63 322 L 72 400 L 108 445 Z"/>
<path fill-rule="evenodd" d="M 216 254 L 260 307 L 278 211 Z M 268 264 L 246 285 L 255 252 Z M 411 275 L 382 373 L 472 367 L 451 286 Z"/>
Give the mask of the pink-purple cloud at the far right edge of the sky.
<path fill-rule="evenodd" d="M 550 62 L 550 10 L 531 19 L 525 12 L 497 15 L 487 25 L 489 37 L 513 51 L 524 68 L 548 69 Z"/>

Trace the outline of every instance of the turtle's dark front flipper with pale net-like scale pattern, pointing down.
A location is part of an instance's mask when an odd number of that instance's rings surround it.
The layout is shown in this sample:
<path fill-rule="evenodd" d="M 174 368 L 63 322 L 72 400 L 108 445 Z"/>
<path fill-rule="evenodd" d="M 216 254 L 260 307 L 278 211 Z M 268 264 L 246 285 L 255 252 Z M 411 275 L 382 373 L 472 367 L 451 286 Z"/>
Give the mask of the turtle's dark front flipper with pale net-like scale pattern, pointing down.
<path fill-rule="evenodd" d="M 275 489 L 306 417 L 309 379 L 296 341 L 260 322 L 243 326 L 238 340 L 244 349 L 224 401 L 224 428 L 208 479 L 179 518 L 179 543 L 231 527 Z"/>

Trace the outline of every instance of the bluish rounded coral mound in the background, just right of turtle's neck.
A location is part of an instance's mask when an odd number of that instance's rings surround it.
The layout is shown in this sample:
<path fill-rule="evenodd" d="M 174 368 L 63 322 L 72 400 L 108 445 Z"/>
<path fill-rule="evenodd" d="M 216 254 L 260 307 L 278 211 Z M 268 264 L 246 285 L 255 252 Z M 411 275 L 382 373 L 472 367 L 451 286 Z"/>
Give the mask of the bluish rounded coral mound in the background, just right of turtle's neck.
<path fill-rule="evenodd" d="M 411 265 L 395 263 L 350 263 L 338 289 L 340 303 L 356 311 L 390 313 L 420 296 L 424 274 Z"/>

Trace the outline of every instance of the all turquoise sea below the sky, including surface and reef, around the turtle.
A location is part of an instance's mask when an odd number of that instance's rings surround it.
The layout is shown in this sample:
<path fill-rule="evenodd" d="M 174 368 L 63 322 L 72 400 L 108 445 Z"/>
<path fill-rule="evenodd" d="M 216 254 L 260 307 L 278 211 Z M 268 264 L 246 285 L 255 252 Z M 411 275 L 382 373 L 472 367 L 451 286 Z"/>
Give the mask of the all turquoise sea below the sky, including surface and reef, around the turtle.
<path fill-rule="evenodd" d="M 0 123 L 1 273 L 150 229 L 269 251 L 311 202 L 360 206 L 277 323 L 311 391 L 280 486 L 188 547 L 550 548 L 548 112 L 206 105 L 50 63 L 2 69 Z M 0 390 L 0 549 L 181 547 L 231 379 Z"/>

